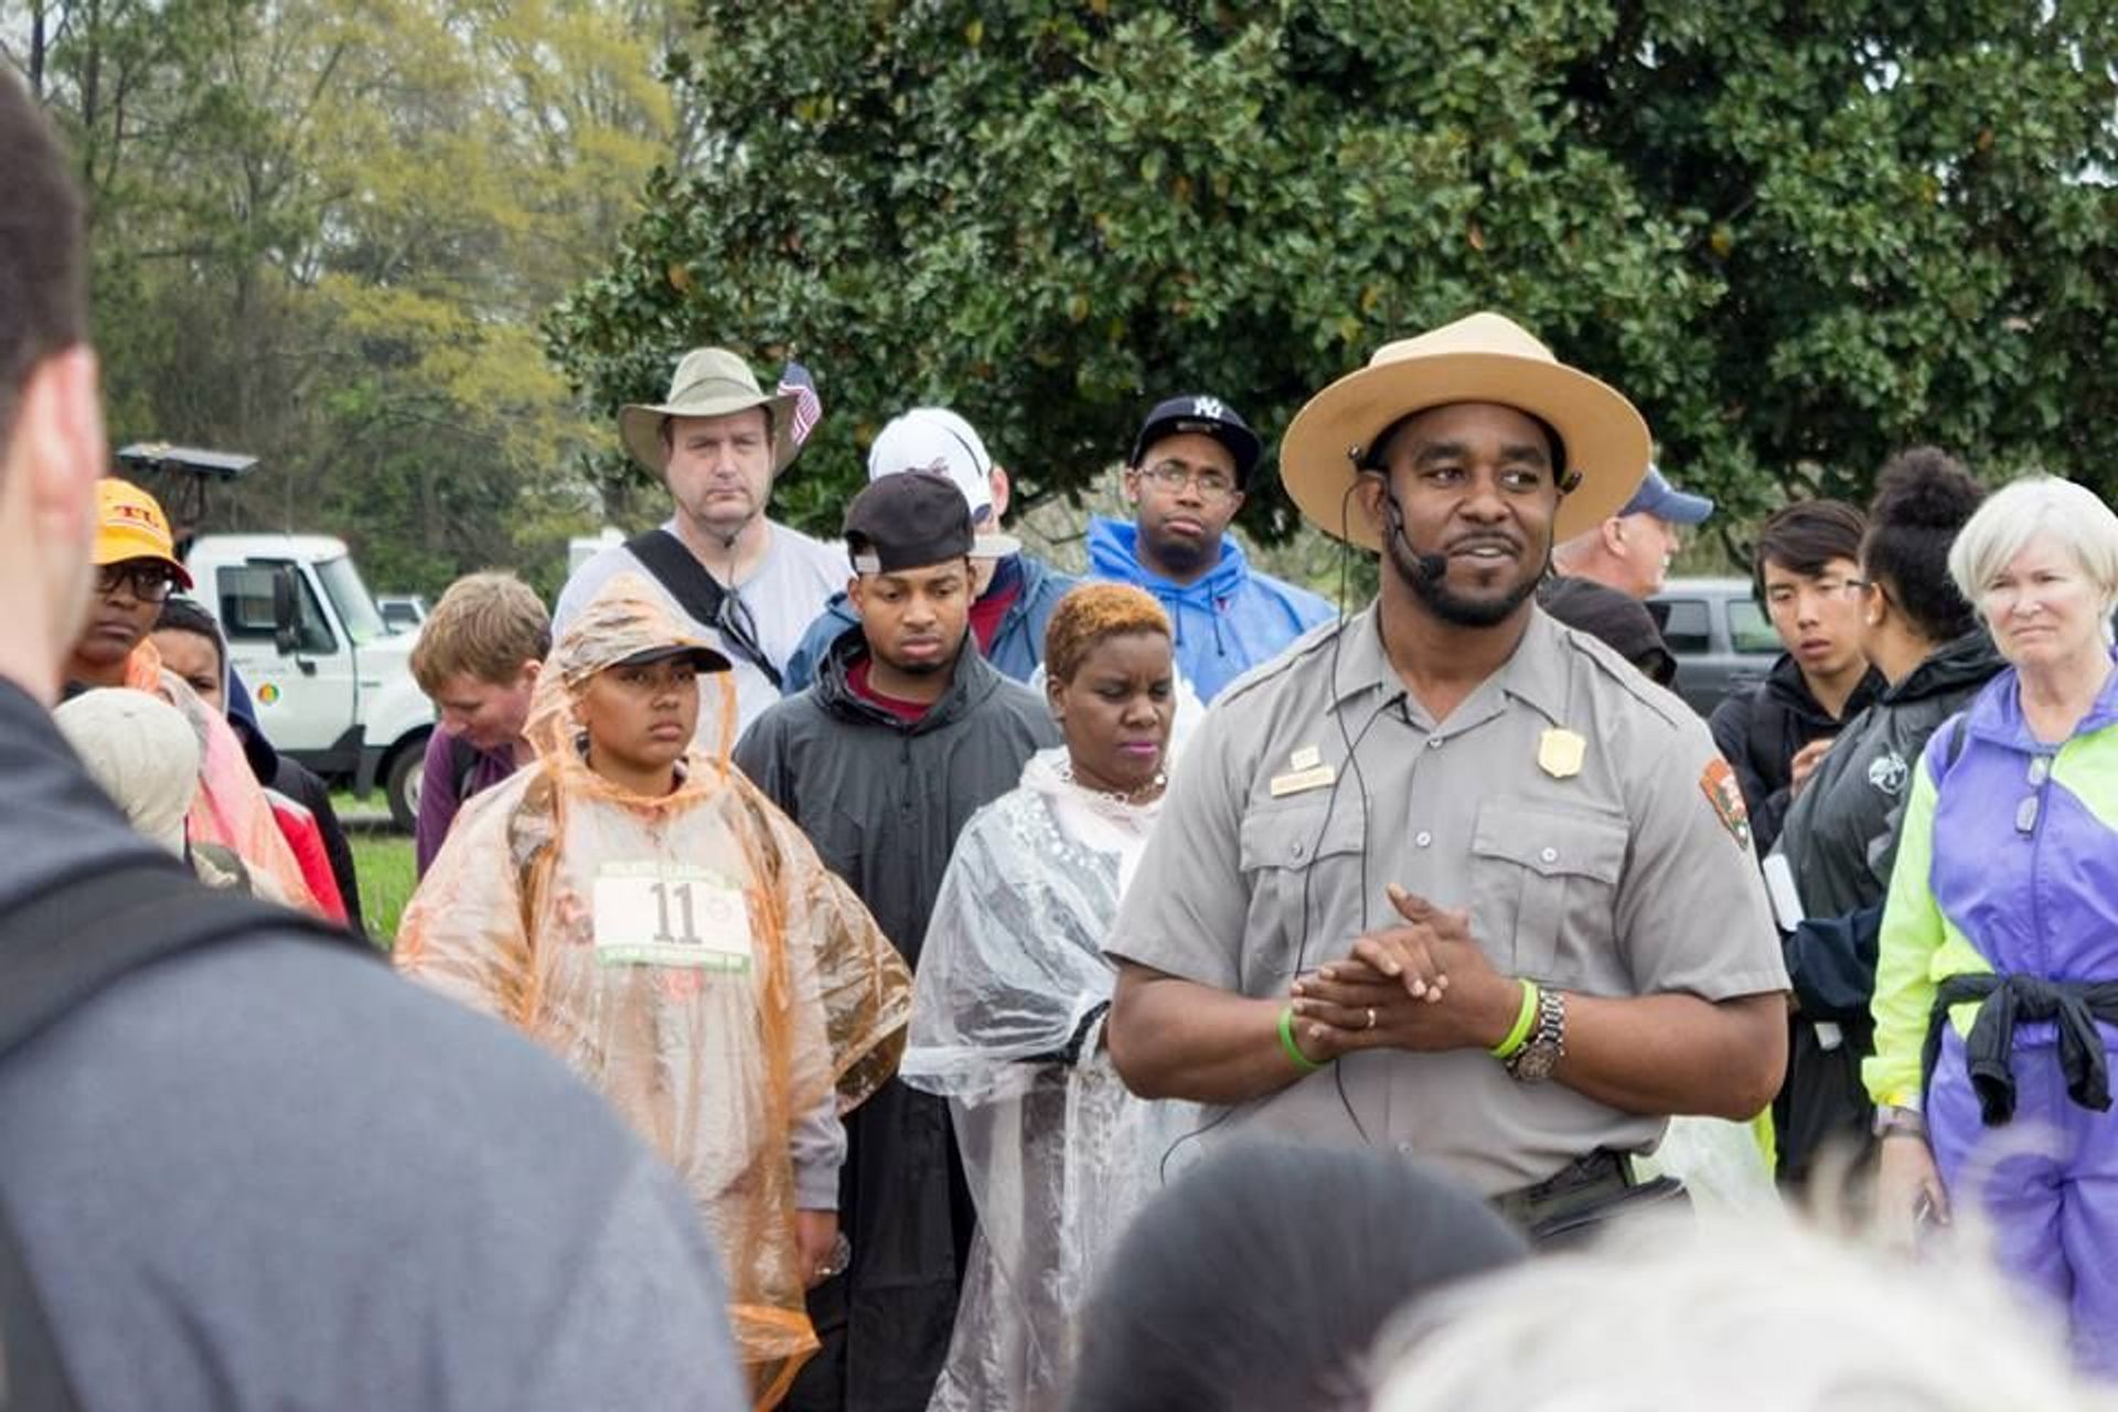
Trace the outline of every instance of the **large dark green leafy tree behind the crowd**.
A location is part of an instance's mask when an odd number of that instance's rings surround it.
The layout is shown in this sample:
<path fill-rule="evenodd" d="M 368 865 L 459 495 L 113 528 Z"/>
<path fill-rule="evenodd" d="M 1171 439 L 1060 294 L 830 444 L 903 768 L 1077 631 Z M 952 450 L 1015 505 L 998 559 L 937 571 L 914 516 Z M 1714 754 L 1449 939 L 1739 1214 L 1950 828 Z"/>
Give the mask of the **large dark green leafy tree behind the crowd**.
<path fill-rule="evenodd" d="M 824 527 L 913 402 L 1078 495 L 1156 396 L 1275 434 L 1478 307 L 1737 514 L 1913 440 L 2110 489 L 2114 40 L 2110 0 L 701 0 L 710 140 L 546 332 L 597 411 L 693 343 L 803 358 Z"/>

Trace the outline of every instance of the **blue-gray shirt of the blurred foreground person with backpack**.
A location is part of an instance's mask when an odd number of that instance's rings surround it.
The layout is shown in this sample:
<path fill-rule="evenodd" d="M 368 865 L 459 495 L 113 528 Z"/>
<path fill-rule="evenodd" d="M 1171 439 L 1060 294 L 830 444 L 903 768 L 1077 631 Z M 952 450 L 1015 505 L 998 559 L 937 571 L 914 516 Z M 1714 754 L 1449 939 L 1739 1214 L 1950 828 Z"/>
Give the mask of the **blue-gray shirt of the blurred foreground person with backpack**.
<path fill-rule="evenodd" d="M 0 684 L 0 908 L 140 855 Z M 85 1408 L 748 1408 L 705 1232 L 557 1061 L 307 938 L 0 1063 L 0 1205 Z"/>

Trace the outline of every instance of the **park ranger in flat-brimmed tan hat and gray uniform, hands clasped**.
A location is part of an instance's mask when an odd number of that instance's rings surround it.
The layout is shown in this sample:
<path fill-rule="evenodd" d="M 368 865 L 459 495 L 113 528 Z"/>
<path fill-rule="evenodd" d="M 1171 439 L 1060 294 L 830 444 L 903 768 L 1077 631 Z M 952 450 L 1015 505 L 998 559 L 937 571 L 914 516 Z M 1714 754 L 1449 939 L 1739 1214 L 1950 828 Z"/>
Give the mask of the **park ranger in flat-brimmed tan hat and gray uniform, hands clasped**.
<path fill-rule="evenodd" d="M 1648 451 L 1493 313 L 1288 428 L 1288 491 L 1381 595 L 1226 688 L 1106 944 L 1112 1058 L 1220 1105 L 1195 1143 L 1394 1147 L 1557 1234 L 1646 1198 L 1627 1154 L 1671 1114 L 1771 1101 L 1788 976 L 1735 777 L 1533 599 Z"/>

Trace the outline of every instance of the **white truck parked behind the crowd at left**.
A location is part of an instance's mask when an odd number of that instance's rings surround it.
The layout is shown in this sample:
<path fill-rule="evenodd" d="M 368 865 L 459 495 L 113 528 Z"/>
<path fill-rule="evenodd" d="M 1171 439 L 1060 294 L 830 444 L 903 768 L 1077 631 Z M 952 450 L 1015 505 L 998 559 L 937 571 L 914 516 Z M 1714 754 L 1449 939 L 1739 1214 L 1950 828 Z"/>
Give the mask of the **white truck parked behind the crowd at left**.
<path fill-rule="evenodd" d="M 184 557 L 193 595 L 282 752 L 366 794 L 379 781 L 398 828 L 419 813 L 434 707 L 411 675 L 417 633 L 392 631 L 343 540 L 210 533 Z"/>

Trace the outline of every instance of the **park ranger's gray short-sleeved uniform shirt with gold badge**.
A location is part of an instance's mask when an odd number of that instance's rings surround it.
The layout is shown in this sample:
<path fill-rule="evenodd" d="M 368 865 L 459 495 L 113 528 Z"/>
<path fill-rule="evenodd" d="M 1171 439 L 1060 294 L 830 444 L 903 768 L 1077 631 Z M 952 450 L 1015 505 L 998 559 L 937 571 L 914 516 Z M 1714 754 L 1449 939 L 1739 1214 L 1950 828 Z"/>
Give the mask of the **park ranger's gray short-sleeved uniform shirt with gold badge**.
<path fill-rule="evenodd" d="M 1567 737 L 1546 732 L 1580 737 L 1578 771 L 1563 768 Z M 1724 777 L 1677 696 L 1542 610 L 1506 667 L 1436 722 L 1392 669 L 1370 608 L 1220 696 L 1106 951 L 1279 999 L 1298 972 L 1394 923 L 1383 885 L 1398 883 L 1468 908 L 1510 976 L 1605 997 L 1783 991 Z M 1504 1192 L 1595 1147 L 1650 1149 L 1663 1126 L 1565 1084 L 1516 1084 L 1480 1050 L 1372 1050 L 1233 1114 L 1209 1109 L 1197 1141 L 1248 1128 L 1392 1145 Z"/>

